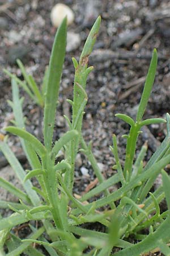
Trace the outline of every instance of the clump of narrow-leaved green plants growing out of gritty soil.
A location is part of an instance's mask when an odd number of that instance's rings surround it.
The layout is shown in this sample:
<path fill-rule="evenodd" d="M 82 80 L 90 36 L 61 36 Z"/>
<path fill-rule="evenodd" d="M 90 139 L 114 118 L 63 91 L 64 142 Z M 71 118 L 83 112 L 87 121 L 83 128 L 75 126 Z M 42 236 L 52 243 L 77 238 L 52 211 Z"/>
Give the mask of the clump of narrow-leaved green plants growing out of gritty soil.
<path fill-rule="evenodd" d="M 18 84 L 20 81 L 14 75 L 10 75 L 13 98 L 9 103 L 14 112 L 15 126 L 7 127 L 5 130 L 20 137 L 31 171 L 25 174 L 5 138 L 0 143 L 1 151 L 19 177 L 24 192 L 2 178 L 0 179 L 1 187 L 13 193 L 20 200 L 20 203 L 0 201 L 1 208 L 14 211 L 10 217 L 0 219 L 1 255 L 5 254 L 5 250 L 8 251 L 6 254 L 8 256 L 20 255 L 23 252 L 31 256 L 44 255 L 39 248 L 33 247 L 32 243 L 44 246 L 48 254 L 52 256 L 110 256 L 112 254 L 137 256 L 156 247 L 159 247 L 164 255 L 170 255 L 167 245 L 170 241 L 170 178 L 163 170 L 170 163 L 170 116 L 167 114 L 166 121 L 162 118 L 142 120 L 156 73 L 156 49 L 152 55 L 136 120 L 134 121 L 125 114 L 116 115 L 130 125 L 129 135 L 124 135 L 127 139 L 124 168 L 120 164 L 117 140 L 113 135 L 111 150 L 116 160 L 114 168 L 116 168 L 117 174 L 104 180 L 92 154 L 91 143 L 87 145 L 82 137 L 82 119 L 87 103 L 86 80 L 92 71 L 92 67 L 87 67 L 88 56 L 94 46 L 99 26 L 100 17 L 92 27 L 79 62 L 73 58 L 75 67 L 74 96 L 73 101 L 67 100 L 72 106 L 73 117 L 71 121 L 65 117 L 69 124 L 69 131 L 54 144 L 54 120 L 66 48 L 66 19 L 58 28 L 54 40 L 48 75 L 45 76 L 45 101 L 42 105 L 40 104 L 42 97 L 38 97 L 39 93 L 33 89 L 36 87 L 31 88 L 30 86 L 30 81 L 33 80 L 30 76 L 25 75 L 24 68 L 18 61 L 25 81 L 37 99 L 39 98 L 39 104 L 44 106 L 44 144 L 25 130 L 22 112 L 23 99 L 19 98 Z M 25 81 L 22 82 L 24 86 Z M 33 84 L 35 85 L 35 82 Z M 141 133 L 143 125 L 160 122 L 167 122 L 167 136 L 144 167 L 146 144 L 135 159 L 138 135 Z M 79 148 L 79 144 L 82 148 Z M 65 150 L 65 159 L 56 163 L 61 148 Z M 90 160 L 100 182 L 96 188 L 83 195 L 79 200 L 73 196 L 75 157 L 78 150 L 81 150 Z M 151 193 L 150 189 L 160 173 L 163 176 L 163 186 Z M 33 187 L 30 181 L 35 176 L 39 181 L 40 188 Z M 118 182 L 121 183 L 121 188 L 109 193 L 108 188 Z M 92 201 L 92 203 L 83 203 L 100 193 L 104 195 L 102 198 Z M 168 210 L 160 213 L 159 204 L 164 198 L 167 200 Z M 104 207 L 105 210 L 101 210 L 101 207 Z M 38 228 L 31 221 L 39 221 Z M 28 222 L 31 234 L 27 239 L 21 240 L 15 236 L 12 228 L 24 222 Z M 83 228 L 81 225 L 86 222 L 101 223 L 105 226 L 105 233 Z M 143 230 L 148 230 L 148 234 L 143 233 Z M 138 242 L 136 244 L 129 242 L 129 236 L 133 236 L 134 241 Z M 122 250 L 116 252 L 114 247 L 119 247 Z"/>

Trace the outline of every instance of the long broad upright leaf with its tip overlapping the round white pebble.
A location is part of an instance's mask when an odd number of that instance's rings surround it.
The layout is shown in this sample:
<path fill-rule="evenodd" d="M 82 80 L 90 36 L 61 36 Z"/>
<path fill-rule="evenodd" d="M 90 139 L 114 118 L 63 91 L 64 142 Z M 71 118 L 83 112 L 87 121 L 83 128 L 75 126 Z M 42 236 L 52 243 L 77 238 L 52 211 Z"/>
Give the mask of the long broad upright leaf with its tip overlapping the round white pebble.
<path fill-rule="evenodd" d="M 61 80 L 62 66 L 66 51 L 66 29 L 67 19 L 65 18 L 57 30 L 52 54 L 50 56 L 49 75 L 44 108 L 44 143 L 48 151 L 50 151 L 52 147 L 59 82 Z"/>

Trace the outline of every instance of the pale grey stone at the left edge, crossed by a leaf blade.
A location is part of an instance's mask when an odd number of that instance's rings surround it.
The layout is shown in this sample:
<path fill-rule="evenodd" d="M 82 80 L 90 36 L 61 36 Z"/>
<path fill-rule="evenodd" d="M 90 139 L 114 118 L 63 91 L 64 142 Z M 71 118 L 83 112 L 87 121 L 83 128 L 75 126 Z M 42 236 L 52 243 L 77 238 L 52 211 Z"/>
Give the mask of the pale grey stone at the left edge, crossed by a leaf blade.
<path fill-rule="evenodd" d="M 23 191 L 23 187 L 20 184 L 18 177 L 16 176 L 14 170 L 10 166 L 6 166 L 0 170 L 0 176 L 14 185 L 16 188 L 19 188 Z M 14 203 L 18 202 L 18 197 L 14 196 L 6 189 L 0 187 L 0 200 L 12 201 Z"/>

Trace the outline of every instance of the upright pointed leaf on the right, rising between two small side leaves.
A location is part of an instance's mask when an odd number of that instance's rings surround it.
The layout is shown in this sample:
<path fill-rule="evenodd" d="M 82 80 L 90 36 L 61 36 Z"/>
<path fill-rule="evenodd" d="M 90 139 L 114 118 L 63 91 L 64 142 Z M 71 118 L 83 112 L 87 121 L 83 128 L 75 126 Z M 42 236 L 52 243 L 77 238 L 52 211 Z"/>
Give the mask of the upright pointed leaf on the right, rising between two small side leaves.
<path fill-rule="evenodd" d="M 141 102 L 139 104 L 139 108 L 137 112 L 137 122 L 141 121 L 143 114 L 145 112 L 146 105 L 150 97 L 151 89 L 154 84 L 157 62 L 158 62 L 158 56 L 157 56 L 156 49 L 154 49 L 152 54 L 151 64 L 148 69 L 145 86 L 144 86 L 142 97 L 141 97 Z"/>

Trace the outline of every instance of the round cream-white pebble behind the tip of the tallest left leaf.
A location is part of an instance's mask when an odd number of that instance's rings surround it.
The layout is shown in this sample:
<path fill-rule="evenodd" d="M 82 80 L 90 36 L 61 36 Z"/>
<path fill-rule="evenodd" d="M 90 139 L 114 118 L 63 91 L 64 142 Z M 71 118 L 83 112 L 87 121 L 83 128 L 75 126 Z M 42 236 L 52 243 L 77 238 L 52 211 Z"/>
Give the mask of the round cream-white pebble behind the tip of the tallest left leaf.
<path fill-rule="evenodd" d="M 69 6 L 63 3 L 57 3 L 51 11 L 50 18 L 54 27 L 59 27 L 63 18 L 67 16 L 67 24 L 70 25 L 74 21 L 74 13 Z"/>

